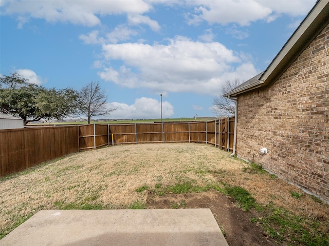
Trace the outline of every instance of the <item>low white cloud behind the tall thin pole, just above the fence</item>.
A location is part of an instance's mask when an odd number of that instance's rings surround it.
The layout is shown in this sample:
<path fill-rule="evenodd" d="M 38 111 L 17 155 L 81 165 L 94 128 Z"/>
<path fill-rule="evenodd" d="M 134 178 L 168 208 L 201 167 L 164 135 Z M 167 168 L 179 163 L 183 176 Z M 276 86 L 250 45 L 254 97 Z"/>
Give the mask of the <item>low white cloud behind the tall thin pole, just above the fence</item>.
<path fill-rule="evenodd" d="M 111 118 L 126 119 L 126 118 L 160 118 L 161 104 L 154 98 L 141 97 L 135 100 L 133 105 L 124 103 L 109 103 L 108 107 L 117 108 L 111 113 Z M 174 114 L 174 108 L 168 101 L 162 101 L 162 118 L 170 117 Z"/>

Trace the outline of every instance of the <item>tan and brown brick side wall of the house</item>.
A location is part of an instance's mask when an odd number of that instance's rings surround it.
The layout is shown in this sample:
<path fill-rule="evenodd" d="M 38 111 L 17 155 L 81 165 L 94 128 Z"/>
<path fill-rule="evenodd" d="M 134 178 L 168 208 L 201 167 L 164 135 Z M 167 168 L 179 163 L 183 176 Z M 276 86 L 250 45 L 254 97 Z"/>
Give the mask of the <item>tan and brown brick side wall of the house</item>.
<path fill-rule="evenodd" d="M 328 202 L 329 25 L 271 87 L 238 100 L 237 155 Z"/>

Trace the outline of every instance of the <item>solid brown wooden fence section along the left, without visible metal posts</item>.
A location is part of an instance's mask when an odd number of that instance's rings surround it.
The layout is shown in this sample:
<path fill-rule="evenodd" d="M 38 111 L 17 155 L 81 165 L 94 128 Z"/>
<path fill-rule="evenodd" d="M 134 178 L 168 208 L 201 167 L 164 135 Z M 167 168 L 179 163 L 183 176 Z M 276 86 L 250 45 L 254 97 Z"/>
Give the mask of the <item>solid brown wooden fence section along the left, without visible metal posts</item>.
<path fill-rule="evenodd" d="M 0 177 L 78 151 L 77 126 L 0 130 Z"/>

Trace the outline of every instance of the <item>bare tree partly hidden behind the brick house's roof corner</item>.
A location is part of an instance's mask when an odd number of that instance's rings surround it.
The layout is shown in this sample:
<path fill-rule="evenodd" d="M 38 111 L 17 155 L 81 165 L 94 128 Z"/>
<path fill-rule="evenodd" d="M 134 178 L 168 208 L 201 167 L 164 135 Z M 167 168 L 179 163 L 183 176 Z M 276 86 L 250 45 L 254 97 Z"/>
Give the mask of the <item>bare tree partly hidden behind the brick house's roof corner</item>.
<path fill-rule="evenodd" d="M 222 86 L 222 95 L 213 98 L 212 111 L 217 116 L 232 116 L 235 114 L 235 100 L 224 97 L 223 94 L 230 92 L 241 84 L 239 79 L 226 80 Z"/>

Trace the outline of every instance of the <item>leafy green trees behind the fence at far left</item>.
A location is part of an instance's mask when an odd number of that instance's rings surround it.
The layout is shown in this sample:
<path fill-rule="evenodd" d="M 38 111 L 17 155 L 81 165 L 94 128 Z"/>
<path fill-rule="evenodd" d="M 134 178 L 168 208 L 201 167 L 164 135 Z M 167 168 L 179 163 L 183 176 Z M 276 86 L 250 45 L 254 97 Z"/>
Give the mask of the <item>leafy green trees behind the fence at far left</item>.
<path fill-rule="evenodd" d="M 19 116 L 28 122 L 60 119 L 77 110 L 78 93 L 72 89 L 46 89 L 28 83 L 19 74 L 0 78 L 0 112 Z"/>

